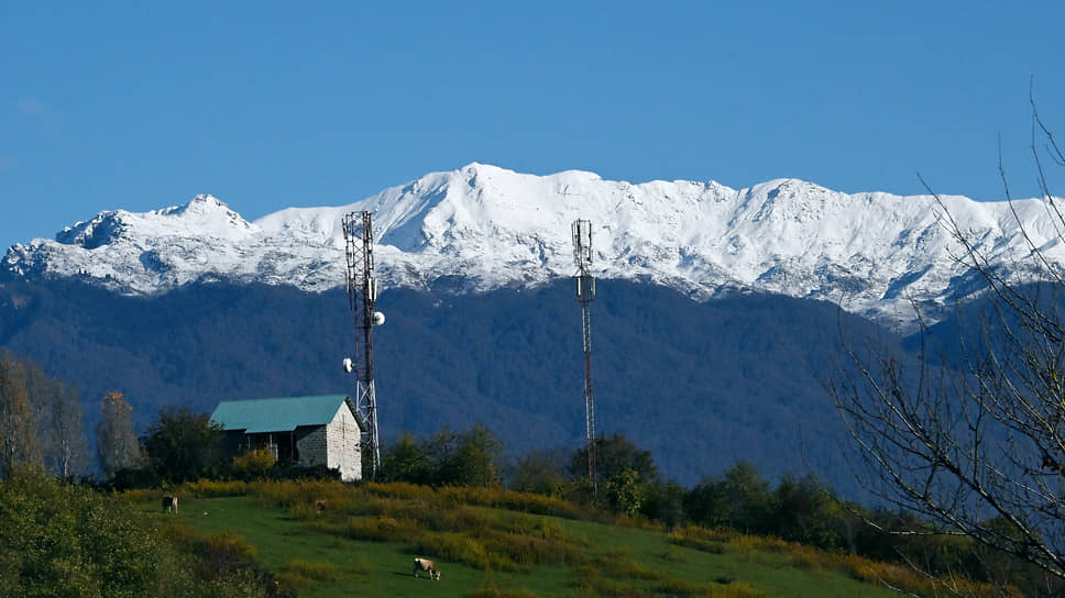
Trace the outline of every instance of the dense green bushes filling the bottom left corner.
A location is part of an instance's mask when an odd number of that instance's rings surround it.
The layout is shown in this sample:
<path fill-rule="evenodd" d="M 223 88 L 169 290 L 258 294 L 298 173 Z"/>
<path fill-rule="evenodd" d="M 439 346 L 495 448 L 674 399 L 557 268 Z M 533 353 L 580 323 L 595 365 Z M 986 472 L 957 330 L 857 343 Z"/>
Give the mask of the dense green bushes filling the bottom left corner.
<path fill-rule="evenodd" d="M 0 483 L 0 596 L 277 596 L 235 539 L 163 532 L 127 500 L 18 473 Z"/>

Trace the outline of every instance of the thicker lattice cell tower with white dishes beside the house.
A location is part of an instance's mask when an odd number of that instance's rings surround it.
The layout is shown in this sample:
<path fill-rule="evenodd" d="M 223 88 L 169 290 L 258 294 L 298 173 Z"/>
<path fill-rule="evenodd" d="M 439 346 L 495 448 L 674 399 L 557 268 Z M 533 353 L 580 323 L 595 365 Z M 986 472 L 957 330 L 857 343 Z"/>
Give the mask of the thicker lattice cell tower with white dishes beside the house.
<path fill-rule="evenodd" d="M 355 314 L 355 356 L 344 359 L 344 370 L 354 372 L 355 411 L 367 436 L 363 455 L 370 458 L 370 479 L 376 479 L 381 467 L 381 443 L 377 438 L 377 396 L 373 384 L 373 326 L 385 323 L 374 311 L 377 280 L 373 277 L 373 225 L 370 212 L 351 212 L 343 219 L 348 257 L 348 299 Z"/>

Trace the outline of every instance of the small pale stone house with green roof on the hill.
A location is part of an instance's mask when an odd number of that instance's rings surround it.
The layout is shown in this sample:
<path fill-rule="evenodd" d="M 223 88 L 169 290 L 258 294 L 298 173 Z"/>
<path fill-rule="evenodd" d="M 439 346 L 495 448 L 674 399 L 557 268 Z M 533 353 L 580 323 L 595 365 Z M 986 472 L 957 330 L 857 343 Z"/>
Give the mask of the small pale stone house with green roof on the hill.
<path fill-rule="evenodd" d="M 234 455 L 267 449 L 279 462 L 326 465 L 344 481 L 362 479 L 362 424 L 344 395 L 222 401 L 211 420 Z"/>

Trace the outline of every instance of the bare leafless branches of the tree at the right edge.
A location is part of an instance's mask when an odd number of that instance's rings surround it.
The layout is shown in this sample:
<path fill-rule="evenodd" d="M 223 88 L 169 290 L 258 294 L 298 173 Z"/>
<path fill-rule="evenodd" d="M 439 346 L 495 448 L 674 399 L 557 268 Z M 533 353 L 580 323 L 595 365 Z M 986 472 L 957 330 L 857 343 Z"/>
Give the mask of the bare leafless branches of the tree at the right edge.
<path fill-rule="evenodd" d="M 1061 200 L 1044 168 L 1047 156 L 1065 166 L 1065 154 L 1034 101 L 1032 153 L 1045 208 L 1039 225 L 1044 232 L 1053 226 L 1055 242 L 1065 243 Z M 992 265 L 936 197 L 941 222 L 957 241 L 955 258 L 986 287 L 982 308 L 976 317 L 959 309 L 949 348 L 922 321 L 916 358 L 876 342 L 849 346 L 852 364 L 828 387 L 860 447 L 859 470 L 870 490 L 920 514 L 934 533 L 970 538 L 1042 569 L 1061 587 L 1065 278 L 1048 245 L 1034 241 L 1031 221 L 1021 218 L 1001 160 L 999 171 L 1026 255 L 1015 267 Z"/>

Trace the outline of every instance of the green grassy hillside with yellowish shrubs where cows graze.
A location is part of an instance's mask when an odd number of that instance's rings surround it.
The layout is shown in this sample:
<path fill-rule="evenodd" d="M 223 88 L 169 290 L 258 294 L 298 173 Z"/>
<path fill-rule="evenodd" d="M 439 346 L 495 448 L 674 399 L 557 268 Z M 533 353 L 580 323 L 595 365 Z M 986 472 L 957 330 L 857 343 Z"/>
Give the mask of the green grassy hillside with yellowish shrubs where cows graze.
<path fill-rule="evenodd" d="M 238 535 L 306 597 L 897 596 L 783 543 L 764 550 L 707 542 L 696 550 L 662 531 L 462 503 L 428 489 L 382 497 L 347 488 L 282 498 L 183 495 L 179 514 L 158 517 Z M 306 498 L 316 491 L 331 492 L 326 513 L 314 513 Z M 138 508 L 156 510 L 157 502 L 143 497 Z M 435 560 L 441 580 L 415 578 L 415 556 Z"/>

